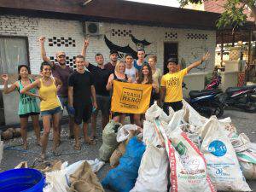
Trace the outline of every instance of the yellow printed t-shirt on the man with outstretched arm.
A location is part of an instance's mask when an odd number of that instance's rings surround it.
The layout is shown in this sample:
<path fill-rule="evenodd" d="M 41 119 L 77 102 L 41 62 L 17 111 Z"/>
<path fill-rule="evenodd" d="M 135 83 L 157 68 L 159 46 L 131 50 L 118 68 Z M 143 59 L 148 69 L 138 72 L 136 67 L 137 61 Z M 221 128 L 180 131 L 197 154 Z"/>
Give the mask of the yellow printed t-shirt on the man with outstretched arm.
<path fill-rule="evenodd" d="M 187 68 L 177 73 L 167 73 L 161 79 L 161 87 L 166 87 L 165 102 L 183 100 L 183 77 L 188 73 Z"/>

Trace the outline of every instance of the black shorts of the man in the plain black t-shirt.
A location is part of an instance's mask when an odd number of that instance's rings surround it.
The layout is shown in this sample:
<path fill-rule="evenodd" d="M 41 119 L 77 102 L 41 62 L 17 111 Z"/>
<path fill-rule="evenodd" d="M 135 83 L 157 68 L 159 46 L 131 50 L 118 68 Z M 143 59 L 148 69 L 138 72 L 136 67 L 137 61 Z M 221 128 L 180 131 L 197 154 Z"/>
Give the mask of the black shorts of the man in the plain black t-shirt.
<path fill-rule="evenodd" d="M 81 104 L 74 104 L 73 108 L 75 109 L 74 114 L 74 122 L 77 125 L 80 125 L 82 123 L 82 120 L 84 123 L 88 123 L 91 117 L 92 113 L 92 105 L 81 105 Z"/>

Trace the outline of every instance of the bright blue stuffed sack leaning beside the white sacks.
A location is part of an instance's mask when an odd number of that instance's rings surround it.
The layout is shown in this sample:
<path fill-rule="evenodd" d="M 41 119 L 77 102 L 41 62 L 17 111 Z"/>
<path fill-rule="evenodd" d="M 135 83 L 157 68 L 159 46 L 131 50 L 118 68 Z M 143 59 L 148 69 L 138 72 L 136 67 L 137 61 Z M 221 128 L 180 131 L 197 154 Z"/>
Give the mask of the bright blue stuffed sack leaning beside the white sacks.
<path fill-rule="evenodd" d="M 129 192 L 137 179 L 145 145 L 137 137 L 132 137 L 126 146 L 125 154 L 119 160 L 119 166 L 110 170 L 102 180 L 104 188 L 118 192 Z"/>

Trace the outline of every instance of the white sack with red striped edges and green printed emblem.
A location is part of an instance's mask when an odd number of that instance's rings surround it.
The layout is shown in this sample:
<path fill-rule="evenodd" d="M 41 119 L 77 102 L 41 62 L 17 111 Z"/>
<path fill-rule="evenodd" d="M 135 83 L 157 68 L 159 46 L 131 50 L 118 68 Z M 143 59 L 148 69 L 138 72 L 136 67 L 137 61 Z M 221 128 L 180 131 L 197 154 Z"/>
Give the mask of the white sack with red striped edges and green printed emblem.
<path fill-rule="evenodd" d="M 165 138 L 171 168 L 171 191 L 216 191 L 207 174 L 204 156 L 195 143 L 192 143 L 187 134 L 182 131 L 183 125 L 178 125 L 172 131 L 168 131 L 169 135 L 166 135 L 159 120 L 156 119 L 154 124 Z M 170 128 L 166 127 L 166 129 Z"/>

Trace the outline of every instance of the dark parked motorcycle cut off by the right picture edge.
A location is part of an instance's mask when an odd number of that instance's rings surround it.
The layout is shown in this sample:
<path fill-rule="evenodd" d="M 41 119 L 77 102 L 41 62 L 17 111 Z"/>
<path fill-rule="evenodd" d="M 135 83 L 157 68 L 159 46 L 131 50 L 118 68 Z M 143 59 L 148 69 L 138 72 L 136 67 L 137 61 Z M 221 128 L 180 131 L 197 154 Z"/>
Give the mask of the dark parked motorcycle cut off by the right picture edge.
<path fill-rule="evenodd" d="M 224 108 L 241 108 L 249 113 L 256 113 L 256 84 L 243 87 L 229 87 L 219 96 Z"/>

